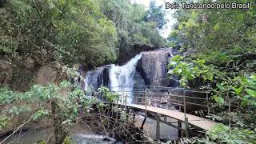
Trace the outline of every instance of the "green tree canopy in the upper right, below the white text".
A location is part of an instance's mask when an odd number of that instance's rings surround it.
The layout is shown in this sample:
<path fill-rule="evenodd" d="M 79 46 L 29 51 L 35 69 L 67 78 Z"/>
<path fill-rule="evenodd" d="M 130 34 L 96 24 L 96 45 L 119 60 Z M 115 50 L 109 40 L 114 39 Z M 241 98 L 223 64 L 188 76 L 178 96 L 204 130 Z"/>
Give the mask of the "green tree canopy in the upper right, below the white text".
<path fill-rule="evenodd" d="M 177 2 L 180 2 L 177 0 Z M 212 2 L 210 0 L 198 2 Z M 220 0 L 218 3 L 232 3 L 232 0 Z M 242 50 L 255 50 L 256 6 L 253 0 L 250 10 L 182 10 L 175 12 L 178 26 L 170 34 L 170 41 L 184 48 L 193 48 L 204 53 L 232 50 L 241 47 Z"/>

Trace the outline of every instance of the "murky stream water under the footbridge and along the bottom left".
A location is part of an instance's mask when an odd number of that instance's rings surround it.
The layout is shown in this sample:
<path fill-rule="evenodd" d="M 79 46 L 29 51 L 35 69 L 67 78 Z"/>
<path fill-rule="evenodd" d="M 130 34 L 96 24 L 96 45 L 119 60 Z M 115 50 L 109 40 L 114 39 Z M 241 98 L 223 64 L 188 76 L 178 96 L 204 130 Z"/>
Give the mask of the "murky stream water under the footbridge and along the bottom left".
<path fill-rule="evenodd" d="M 136 116 L 135 124 L 141 126 L 143 117 Z M 160 122 L 160 138 L 162 139 L 177 139 L 178 130 Z M 156 121 L 150 118 L 146 119 L 144 125 L 144 132 L 150 138 L 156 138 Z M 21 132 L 20 134 L 14 134 L 5 143 L 9 144 L 34 144 L 38 141 L 46 141 L 54 133 L 52 128 L 46 129 L 34 129 Z M 94 134 L 90 130 L 86 130 L 83 126 L 75 126 L 71 130 L 71 138 L 77 144 L 122 144 L 123 142 L 118 142 L 114 138 L 106 137 L 103 135 Z M 2 139 L 0 139 L 0 142 Z"/>

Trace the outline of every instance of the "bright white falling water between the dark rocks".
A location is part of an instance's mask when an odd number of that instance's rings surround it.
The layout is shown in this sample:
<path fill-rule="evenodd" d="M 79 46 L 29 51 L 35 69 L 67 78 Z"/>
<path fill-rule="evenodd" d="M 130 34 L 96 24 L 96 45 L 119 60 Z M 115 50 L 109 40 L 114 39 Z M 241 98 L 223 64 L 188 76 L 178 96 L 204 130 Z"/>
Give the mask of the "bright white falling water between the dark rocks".
<path fill-rule="evenodd" d="M 110 66 L 110 89 L 118 92 L 118 94 L 122 94 L 122 90 L 129 90 L 129 92 L 126 92 L 128 95 L 127 103 L 132 102 L 131 91 L 134 86 L 134 74 L 136 72 L 137 62 L 140 58 L 142 58 L 142 54 L 137 54 L 123 66 Z M 122 98 L 122 102 L 123 101 L 124 98 Z"/>

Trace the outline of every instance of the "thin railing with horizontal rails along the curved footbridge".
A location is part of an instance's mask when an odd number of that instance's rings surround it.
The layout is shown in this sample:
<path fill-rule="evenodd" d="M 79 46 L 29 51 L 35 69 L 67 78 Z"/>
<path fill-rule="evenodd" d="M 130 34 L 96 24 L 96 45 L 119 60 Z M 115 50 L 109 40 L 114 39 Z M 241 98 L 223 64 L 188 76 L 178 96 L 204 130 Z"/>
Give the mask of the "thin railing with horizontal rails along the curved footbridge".
<path fill-rule="evenodd" d="M 209 113 L 208 91 L 186 90 L 165 86 L 118 86 L 111 87 L 110 90 L 121 95 L 117 103 L 125 107 L 135 104 L 146 107 L 155 106 L 165 109 L 178 109 L 184 112 L 185 120 L 187 112 L 193 110 L 208 109 Z"/>

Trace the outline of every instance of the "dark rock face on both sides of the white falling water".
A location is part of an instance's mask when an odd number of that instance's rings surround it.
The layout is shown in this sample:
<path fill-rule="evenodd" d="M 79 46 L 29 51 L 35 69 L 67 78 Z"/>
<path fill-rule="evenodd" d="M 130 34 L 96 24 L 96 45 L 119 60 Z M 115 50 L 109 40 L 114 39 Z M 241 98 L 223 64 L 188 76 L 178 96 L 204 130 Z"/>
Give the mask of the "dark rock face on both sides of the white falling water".
<path fill-rule="evenodd" d="M 154 50 L 142 52 L 138 62 L 136 61 L 135 67 L 128 66 L 130 63 L 134 62 L 136 57 L 131 58 L 129 62 L 126 62 L 126 66 L 116 66 L 126 73 L 130 69 L 134 70 L 134 73 L 127 77 L 133 77 L 133 86 L 178 86 L 177 80 L 169 80 L 167 78 L 167 64 L 172 57 L 172 50 Z M 128 69 L 126 70 L 126 68 Z M 88 86 L 93 86 L 98 88 L 100 86 L 110 87 L 111 82 L 115 82 L 114 78 L 110 78 L 110 70 L 113 69 L 113 65 L 98 67 L 96 70 L 91 70 L 87 72 L 85 79 L 85 89 Z M 119 69 L 118 69 L 119 70 Z M 122 74 L 116 75 L 116 77 L 121 77 Z M 125 77 L 126 78 L 126 77 Z M 174 78 L 175 79 L 175 78 Z M 123 81 L 119 78 L 118 81 Z M 126 80 L 125 83 L 129 83 Z"/>

